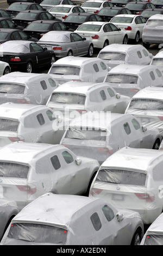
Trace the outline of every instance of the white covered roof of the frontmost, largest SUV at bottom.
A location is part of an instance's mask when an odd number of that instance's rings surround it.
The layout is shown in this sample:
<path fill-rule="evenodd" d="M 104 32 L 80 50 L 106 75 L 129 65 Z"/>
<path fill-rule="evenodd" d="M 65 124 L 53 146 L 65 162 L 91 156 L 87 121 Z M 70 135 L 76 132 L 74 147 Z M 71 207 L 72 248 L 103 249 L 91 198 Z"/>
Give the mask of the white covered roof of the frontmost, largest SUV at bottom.
<path fill-rule="evenodd" d="M 96 209 L 98 204 L 103 205 L 104 201 L 101 198 L 47 193 L 23 208 L 12 222 L 26 220 L 27 222 L 51 223 L 68 229 L 71 228 L 71 222 L 79 221 L 80 216 L 85 214 L 86 210 Z"/>

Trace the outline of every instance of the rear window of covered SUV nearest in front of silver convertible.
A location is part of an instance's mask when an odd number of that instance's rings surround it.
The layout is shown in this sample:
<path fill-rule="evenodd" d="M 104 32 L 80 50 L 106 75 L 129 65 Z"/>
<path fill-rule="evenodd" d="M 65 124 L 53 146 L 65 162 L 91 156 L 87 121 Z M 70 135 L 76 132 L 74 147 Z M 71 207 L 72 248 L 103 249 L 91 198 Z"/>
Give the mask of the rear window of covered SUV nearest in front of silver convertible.
<path fill-rule="evenodd" d="M 79 75 L 80 68 L 78 66 L 61 66 L 54 65 L 51 68 L 50 74 L 56 75 Z"/>

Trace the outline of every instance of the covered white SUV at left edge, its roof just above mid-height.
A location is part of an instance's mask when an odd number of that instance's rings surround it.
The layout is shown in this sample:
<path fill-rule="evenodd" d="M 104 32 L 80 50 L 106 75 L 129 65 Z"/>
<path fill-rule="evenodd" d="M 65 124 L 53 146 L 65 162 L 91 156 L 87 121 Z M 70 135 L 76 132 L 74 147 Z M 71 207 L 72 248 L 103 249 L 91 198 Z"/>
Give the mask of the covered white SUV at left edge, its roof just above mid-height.
<path fill-rule="evenodd" d="M 68 120 L 45 105 L 0 105 L 0 147 L 15 141 L 58 144 Z"/>

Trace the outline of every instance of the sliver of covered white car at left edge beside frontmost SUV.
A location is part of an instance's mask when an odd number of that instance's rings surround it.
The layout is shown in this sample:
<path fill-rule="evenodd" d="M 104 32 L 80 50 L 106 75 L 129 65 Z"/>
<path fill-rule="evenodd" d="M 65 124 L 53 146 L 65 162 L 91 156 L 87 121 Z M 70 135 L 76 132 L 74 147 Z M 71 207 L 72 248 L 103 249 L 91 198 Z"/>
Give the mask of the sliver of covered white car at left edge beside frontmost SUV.
<path fill-rule="evenodd" d="M 5 233 L 5 230 L 7 230 L 12 218 L 14 218 L 15 215 L 18 214 L 18 212 L 19 210 L 15 201 L 5 200 L 0 197 L 0 241 Z"/>

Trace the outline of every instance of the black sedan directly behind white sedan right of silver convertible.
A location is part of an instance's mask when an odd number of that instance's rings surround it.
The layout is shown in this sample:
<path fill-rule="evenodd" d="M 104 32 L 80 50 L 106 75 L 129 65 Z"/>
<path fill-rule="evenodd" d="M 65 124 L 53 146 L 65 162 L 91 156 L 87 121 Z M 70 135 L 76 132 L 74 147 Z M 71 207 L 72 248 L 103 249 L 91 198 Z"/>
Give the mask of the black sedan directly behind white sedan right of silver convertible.
<path fill-rule="evenodd" d="M 102 21 L 102 18 L 98 14 L 93 13 L 73 13 L 69 14 L 62 23 L 72 28 L 74 31 L 79 25 L 86 21 Z"/>

